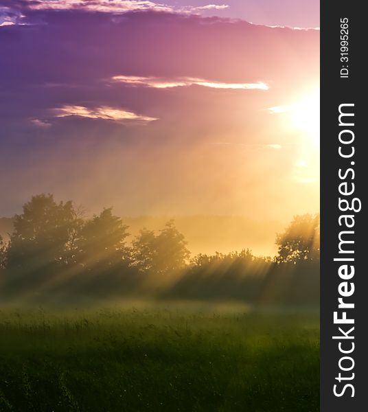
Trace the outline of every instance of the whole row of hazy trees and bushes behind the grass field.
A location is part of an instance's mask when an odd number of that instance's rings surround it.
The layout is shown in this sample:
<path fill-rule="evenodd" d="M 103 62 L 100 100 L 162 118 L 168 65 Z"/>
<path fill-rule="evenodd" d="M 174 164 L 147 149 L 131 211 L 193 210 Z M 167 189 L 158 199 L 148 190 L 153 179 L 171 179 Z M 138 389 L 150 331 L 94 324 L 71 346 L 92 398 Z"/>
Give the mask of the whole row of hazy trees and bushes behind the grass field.
<path fill-rule="evenodd" d="M 2 295 L 318 300 L 318 214 L 295 216 L 277 235 L 274 258 L 249 249 L 191 257 L 173 220 L 158 232 L 141 229 L 130 242 L 128 229 L 112 208 L 86 218 L 71 201 L 32 196 L 14 216 L 10 240 L 0 237 Z"/>

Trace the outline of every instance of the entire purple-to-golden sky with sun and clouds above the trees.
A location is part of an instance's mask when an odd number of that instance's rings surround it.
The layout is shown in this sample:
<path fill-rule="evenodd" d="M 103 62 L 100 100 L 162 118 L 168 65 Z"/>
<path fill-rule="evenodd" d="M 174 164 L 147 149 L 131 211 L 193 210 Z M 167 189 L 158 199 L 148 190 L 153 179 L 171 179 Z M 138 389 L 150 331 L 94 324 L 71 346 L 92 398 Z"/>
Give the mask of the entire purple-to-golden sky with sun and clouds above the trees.
<path fill-rule="evenodd" d="M 0 216 L 318 211 L 316 27 L 314 0 L 0 0 Z"/>

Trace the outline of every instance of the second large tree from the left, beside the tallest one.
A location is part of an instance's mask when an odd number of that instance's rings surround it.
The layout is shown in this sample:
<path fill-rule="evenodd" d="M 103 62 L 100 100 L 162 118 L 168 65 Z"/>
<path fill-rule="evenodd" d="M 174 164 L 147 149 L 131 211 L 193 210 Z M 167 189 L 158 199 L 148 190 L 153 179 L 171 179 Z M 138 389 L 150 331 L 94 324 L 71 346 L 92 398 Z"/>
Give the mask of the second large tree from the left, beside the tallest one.
<path fill-rule="evenodd" d="M 111 268 L 123 264 L 127 249 L 124 240 L 129 233 L 122 219 L 114 216 L 112 208 L 104 209 L 82 227 L 78 249 L 80 260 L 87 268 Z"/>

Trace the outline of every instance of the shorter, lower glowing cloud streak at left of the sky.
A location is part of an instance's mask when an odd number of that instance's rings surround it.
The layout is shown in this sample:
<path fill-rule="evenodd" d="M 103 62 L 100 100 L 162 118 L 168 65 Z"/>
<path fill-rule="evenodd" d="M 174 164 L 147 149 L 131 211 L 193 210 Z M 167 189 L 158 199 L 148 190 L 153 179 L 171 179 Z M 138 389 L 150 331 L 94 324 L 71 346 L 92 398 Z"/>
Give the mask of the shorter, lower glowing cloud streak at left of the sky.
<path fill-rule="evenodd" d="M 87 117 L 89 119 L 106 119 L 114 121 L 122 120 L 136 120 L 141 122 L 152 122 L 157 120 L 155 117 L 148 117 L 137 115 L 130 111 L 120 110 L 119 108 L 113 108 L 108 106 L 101 106 L 97 108 L 87 108 L 85 106 L 62 106 L 54 109 L 56 117 Z"/>

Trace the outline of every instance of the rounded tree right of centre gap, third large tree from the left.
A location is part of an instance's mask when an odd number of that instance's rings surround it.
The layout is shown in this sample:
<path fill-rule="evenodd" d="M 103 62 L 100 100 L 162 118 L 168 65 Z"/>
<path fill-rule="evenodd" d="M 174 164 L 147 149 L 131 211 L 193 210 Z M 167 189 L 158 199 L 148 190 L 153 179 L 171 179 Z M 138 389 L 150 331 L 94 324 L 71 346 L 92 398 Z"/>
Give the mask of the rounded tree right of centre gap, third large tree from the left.
<path fill-rule="evenodd" d="M 158 235 L 143 229 L 133 240 L 133 264 L 141 271 L 173 275 L 185 267 L 189 258 L 186 245 L 173 220 L 167 222 Z"/>

